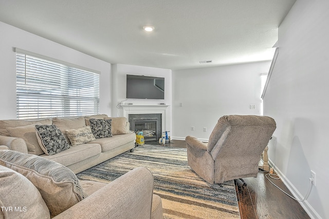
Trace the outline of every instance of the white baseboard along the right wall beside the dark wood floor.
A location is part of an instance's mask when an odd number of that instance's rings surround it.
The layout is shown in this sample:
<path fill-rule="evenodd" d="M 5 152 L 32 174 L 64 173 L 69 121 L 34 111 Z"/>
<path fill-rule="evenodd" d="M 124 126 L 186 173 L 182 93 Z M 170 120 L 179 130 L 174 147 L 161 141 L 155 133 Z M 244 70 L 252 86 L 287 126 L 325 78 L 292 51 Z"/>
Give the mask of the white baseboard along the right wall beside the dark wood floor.
<path fill-rule="evenodd" d="M 279 174 L 283 184 L 288 188 L 288 190 L 294 195 L 295 198 L 301 200 L 303 199 L 303 195 L 296 189 L 296 187 L 289 181 L 289 179 L 280 171 L 280 169 L 270 160 L 268 159 L 270 166 L 273 167 L 276 173 Z M 320 215 L 314 210 L 314 208 L 307 202 L 299 202 L 302 208 L 306 211 L 308 216 L 312 219 L 321 219 Z"/>

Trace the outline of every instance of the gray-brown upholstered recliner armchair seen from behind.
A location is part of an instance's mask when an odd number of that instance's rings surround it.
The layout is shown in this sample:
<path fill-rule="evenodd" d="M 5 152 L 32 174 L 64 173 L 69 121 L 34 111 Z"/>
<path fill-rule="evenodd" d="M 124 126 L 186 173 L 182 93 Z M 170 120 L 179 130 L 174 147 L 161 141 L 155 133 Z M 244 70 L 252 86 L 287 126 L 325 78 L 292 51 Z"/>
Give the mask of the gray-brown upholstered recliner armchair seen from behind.
<path fill-rule="evenodd" d="M 188 164 L 210 184 L 256 177 L 261 154 L 275 130 L 276 122 L 268 116 L 223 116 L 208 144 L 186 137 Z"/>

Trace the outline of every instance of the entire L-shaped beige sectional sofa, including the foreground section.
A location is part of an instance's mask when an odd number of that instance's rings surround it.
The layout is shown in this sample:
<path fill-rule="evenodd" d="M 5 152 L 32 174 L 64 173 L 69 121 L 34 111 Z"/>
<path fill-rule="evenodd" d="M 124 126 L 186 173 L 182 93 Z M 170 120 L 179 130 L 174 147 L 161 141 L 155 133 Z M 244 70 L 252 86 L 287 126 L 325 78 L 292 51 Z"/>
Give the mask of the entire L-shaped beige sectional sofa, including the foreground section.
<path fill-rule="evenodd" d="M 134 149 L 136 135 L 125 118 L 112 118 L 112 137 L 53 155 L 39 148 L 36 124 L 54 124 L 70 141 L 72 130 L 84 129 L 92 118 L 108 117 L 0 120 L 0 218 L 162 218 L 161 198 L 153 194 L 153 175 L 145 168 L 109 184 L 75 175 Z"/>

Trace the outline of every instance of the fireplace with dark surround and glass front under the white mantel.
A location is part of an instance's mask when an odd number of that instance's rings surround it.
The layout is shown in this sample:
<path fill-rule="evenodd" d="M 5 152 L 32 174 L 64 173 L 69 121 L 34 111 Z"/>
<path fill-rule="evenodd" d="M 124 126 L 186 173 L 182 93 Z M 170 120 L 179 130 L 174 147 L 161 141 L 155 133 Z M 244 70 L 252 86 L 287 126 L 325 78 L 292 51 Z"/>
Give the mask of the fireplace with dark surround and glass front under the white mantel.
<path fill-rule="evenodd" d="M 129 114 L 130 130 L 143 132 L 145 141 L 157 141 L 161 137 L 161 114 Z"/>

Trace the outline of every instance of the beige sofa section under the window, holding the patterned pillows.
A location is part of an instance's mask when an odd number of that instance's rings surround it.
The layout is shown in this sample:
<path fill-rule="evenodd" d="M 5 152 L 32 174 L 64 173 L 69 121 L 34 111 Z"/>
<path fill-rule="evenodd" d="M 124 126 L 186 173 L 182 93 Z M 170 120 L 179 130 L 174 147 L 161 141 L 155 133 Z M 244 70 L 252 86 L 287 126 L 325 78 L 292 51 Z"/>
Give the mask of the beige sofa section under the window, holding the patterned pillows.
<path fill-rule="evenodd" d="M 66 130 L 75 130 L 89 125 L 89 119 L 109 118 L 106 114 L 84 117 L 58 117 L 40 120 L 0 120 L 0 145 L 10 150 L 39 155 L 56 161 L 79 173 L 121 153 L 133 150 L 136 135 L 129 131 L 129 122 L 124 117 L 113 117 L 113 137 L 98 138 L 87 143 L 71 146 L 54 155 L 45 154 L 39 147 L 35 124 L 54 124 L 67 138 Z M 69 139 L 67 138 L 68 142 Z"/>

